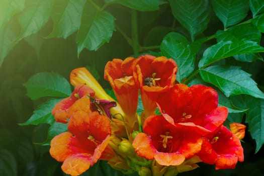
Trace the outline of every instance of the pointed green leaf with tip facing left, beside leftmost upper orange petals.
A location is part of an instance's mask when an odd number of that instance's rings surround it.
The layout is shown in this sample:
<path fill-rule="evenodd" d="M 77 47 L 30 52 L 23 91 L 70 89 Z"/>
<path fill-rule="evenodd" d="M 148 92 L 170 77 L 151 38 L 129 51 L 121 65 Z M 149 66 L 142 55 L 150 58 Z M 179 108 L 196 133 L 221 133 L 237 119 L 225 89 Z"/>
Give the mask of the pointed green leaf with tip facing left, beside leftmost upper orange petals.
<path fill-rule="evenodd" d="M 62 99 L 51 99 L 44 102 L 33 112 L 33 115 L 26 122 L 20 125 L 38 125 L 41 123 L 53 124 L 55 119 L 51 111 L 61 100 Z"/>

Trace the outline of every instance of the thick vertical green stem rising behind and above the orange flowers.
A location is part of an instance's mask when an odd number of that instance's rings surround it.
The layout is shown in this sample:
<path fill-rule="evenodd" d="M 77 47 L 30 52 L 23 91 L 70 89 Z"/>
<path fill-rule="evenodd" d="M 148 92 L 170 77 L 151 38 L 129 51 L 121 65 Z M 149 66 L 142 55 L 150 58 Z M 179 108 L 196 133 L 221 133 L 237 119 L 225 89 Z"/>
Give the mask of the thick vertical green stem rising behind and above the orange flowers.
<path fill-rule="evenodd" d="M 134 55 L 138 55 L 139 53 L 139 45 L 138 45 L 138 32 L 137 32 L 137 11 L 131 9 L 131 26 L 132 26 L 132 48 Z"/>

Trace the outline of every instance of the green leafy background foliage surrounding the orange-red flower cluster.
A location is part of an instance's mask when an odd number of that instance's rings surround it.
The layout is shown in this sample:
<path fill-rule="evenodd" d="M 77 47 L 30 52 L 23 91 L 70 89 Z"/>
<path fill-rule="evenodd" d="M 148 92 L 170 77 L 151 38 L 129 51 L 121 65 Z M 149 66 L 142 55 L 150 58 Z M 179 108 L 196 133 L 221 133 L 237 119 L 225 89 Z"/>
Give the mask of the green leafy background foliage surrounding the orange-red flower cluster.
<path fill-rule="evenodd" d="M 66 126 L 50 111 L 70 95 L 70 71 L 87 66 L 110 89 L 106 62 L 141 54 L 175 59 L 179 82 L 213 86 L 226 125 L 247 125 L 236 169 L 181 175 L 261 175 L 262 33 L 264 0 L 0 0 L 0 175 L 64 175 L 48 150 Z M 100 161 L 82 175 L 123 173 Z"/>

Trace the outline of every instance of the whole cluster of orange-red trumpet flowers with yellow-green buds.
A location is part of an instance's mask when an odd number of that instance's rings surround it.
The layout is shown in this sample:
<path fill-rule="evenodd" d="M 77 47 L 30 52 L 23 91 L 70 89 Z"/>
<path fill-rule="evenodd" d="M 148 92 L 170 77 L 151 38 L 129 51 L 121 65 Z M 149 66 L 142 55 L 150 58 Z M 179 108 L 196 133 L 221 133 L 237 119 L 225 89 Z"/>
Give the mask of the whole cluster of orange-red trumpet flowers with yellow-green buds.
<path fill-rule="evenodd" d="M 52 111 L 57 122 L 68 123 L 68 132 L 52 139 L 51 156 L 71 175 L 99 159 L 139 175 L 176 175 L 197 168 L 198 162 L 234 168 L 244 159 L 235 135 L 241 138 L 244 128 L 232 124 L 233 134 L 223 126 L 228 110 L 218 107 L 217 92 L 177 83 L 177 70 L 174 60 L 150 55 L 109 61 L 104 78 L 117 102 L 87 69 L 72 70 L 75 89 Z"/>

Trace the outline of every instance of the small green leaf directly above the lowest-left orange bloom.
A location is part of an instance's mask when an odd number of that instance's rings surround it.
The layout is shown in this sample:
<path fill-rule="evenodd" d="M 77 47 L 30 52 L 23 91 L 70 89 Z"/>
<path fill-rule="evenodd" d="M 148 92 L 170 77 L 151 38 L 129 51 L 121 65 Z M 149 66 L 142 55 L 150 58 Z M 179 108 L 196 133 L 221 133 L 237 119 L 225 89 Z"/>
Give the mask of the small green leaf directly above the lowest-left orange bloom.
<path fill-rule="evenodd" d="M 53 123 L 48 130 L 47 139 L 44 142 L 38 143 L 40 145 L 50 145 L 50 141 L 60 133 L 66 132 L 68 128 L 68 124 L 64 123 Z"/>

